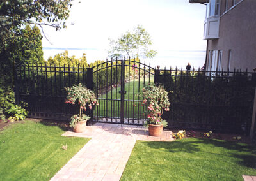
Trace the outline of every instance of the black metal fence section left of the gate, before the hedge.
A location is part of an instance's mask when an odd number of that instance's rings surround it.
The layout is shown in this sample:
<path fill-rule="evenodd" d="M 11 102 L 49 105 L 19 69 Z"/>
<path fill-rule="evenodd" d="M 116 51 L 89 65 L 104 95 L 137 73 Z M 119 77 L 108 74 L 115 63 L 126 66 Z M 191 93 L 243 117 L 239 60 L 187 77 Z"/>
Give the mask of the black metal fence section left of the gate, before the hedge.
<path fill-rule="evenodd" d="M 64 87 L 83 83 L 92 88 L 92 68 L 60 65 L 15 65 L 17 104 L 28 103 L 29 117 L 68 120 L 79 113 L 77 105 L 65 104 Z"/>

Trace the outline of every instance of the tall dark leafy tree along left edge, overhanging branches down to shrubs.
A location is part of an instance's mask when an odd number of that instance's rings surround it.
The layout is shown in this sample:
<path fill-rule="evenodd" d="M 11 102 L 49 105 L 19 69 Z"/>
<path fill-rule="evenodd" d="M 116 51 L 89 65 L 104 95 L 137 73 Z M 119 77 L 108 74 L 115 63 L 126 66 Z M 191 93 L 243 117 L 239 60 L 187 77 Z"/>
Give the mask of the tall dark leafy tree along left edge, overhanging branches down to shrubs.
<path fill-rule="evenodd" d="M 1 0 L 0 1 L 0 97 L 13 95 L 13 61 L 24 63 L 21 55 L 29 59 L 42 60 L 42 52 L 36 52 L 42 46 L 39 29 L 33 30 L 26 25 L 38 25 L 44 34 L 43 26 L 56 30 L 65 27 L 72 0 Z M 33 31 L 34 38 L 29 39 L 28 32 Z M 34 42 L 32 42 L 34 41 Z M 24 44 L 23 44 L 24 43 Z M 24 48 L 29 45 L 33 50 Z M 17 48 L 18 47 L 18 48 Z M 16 52 L 17 50 L 17 52 Z M 19 52 L 20 50 L 20 52 Z M 23 52 L 22 52 L 23 51 Z M 19 60 L 19 61 L 18 61 Z M 13 100 L 12 96 L 12 100 Z M 4 98 L 4 100 L 7 100 Z M 0 110 L 4 101 L 0 103 Z M 9 101 L 10 102 L 10 101 Z"/>

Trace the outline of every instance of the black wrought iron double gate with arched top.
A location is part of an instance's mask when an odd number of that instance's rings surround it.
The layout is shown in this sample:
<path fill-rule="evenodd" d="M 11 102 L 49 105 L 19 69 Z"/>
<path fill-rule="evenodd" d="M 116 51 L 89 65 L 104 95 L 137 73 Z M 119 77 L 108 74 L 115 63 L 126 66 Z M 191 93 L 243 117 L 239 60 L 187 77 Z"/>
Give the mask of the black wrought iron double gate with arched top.
<path fill-rule="evenodd" d="M 141 106 L 144 85 L 154 83 L 154 68 L 139 60 L 111 60 L 93 66 L 93 89 L 99 106 L 93 120 L 117 124 L 143 125 L 147 108 Z"/>

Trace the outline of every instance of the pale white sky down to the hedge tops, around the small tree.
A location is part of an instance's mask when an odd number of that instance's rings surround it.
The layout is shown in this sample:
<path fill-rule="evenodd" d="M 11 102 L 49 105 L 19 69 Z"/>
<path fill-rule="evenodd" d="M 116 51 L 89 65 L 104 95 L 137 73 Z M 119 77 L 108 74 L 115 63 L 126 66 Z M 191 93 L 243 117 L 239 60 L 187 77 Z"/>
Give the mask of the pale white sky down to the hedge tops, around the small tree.
<path fill-rule="evenodd" d="M 42 40 L 45 59 L 48 59 L 49 55 L 54 56 L 64 51 L 45 48 L 79 49 L 68 50 L 69 55 L 81 57 L 85 52 L 88 62 L 106 59 L 108 38 L 116 39 L 127 31 L 132 31 L 136 25 L 143 25 L 150 34 L 152 48 L 157 50 L 158 59 L 179 59 L 184 54 L 177 51 L 203 52 L 206 49 L 206 40 L 203 40 L 203 4 L 190 4 L 189 0 L 79 1 L 72 2 L 66 29 L 56 31 L 51 27 L 44 28 L 47 38 L 51 41 L 49 43 L 45 38 Z M 74 25 L 71 25 L 71 22 L 74 22 Z M 157 57 L 154 60 L 157 60 Z M 201 61 L 203 57 L 201 55 Z"/>

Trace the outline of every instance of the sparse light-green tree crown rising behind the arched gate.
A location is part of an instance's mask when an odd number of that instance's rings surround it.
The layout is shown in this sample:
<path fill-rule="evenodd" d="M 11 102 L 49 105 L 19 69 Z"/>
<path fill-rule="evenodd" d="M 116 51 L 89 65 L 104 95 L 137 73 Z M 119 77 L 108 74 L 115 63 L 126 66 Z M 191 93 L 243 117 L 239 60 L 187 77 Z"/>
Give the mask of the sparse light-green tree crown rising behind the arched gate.
<path fill-rule="evenodd" d="M 156 50 L 150 48 L 152 40 L 142 25 L 135 27 L 133 33 L 127 31 L 122 34 L 117 40 L 109 38 L 109 44 L 108 54 L 111 58 L 122 56 L 152 58 L 157 54 Z"/>

